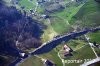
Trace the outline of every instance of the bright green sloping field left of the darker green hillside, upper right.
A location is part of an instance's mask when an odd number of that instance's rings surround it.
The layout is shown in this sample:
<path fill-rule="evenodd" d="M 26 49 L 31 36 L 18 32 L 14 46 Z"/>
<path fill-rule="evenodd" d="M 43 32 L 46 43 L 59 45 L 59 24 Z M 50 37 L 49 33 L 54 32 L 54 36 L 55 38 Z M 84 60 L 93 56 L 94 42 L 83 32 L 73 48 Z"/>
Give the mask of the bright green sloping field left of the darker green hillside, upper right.
<path fill-rule="evenodd" d="M 74 2 L 73 2 L 74 3 Z M 64 10 L 54 12 L 50 14 L 51 16 L 59 16 L 63 19 L 67 19 L 68 21 L 71 20 L 71 18 L 79 11 L 79 9 L 83 6 L 84 4 L 77 5 L 76 3 L 72 4 L 69 3 L 68 6 L 65 7 Z"/>

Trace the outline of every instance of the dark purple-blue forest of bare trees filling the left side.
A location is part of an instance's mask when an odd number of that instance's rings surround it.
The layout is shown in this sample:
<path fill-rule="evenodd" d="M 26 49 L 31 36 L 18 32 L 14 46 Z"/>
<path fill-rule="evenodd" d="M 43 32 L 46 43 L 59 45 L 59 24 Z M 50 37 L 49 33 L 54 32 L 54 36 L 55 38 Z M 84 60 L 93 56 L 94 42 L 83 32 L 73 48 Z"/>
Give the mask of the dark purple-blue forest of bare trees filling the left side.
<path fill-rule="evenodd" d="M 16 42 L 20 35 L 23 38 L 20 43 L 25 49 L 40 46 L 44 25 L 5 4 L 0 0 L 0 55 L 18 56 Z"/>

